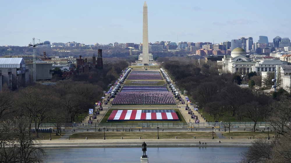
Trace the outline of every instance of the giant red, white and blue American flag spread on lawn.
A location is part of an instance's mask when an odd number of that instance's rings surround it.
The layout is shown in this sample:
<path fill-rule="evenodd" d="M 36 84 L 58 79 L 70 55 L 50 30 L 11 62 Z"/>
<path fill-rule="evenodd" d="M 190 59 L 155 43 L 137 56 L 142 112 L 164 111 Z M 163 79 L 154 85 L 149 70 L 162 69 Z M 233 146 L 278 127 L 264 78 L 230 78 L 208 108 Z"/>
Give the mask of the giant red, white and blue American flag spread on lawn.
<path fill-rule="evenodd" d="M 175 110 L 113 110 L 107 121 L 179 121 Z"/>

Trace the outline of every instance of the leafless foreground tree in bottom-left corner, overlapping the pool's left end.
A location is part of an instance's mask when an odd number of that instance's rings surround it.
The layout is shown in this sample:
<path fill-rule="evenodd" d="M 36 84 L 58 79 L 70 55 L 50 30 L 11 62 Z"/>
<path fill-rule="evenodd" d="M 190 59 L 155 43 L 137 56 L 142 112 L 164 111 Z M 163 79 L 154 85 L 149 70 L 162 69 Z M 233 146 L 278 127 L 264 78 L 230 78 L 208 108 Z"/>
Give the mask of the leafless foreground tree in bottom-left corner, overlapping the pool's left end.
<path fill-rule="evenodd" d="M 38 146 L 38 140 L 29 135 L 30 120 L 16 116 L 2 121 L 0 129 L 0 162 L 35 163 L 42 162 L 45 152 Z"/>

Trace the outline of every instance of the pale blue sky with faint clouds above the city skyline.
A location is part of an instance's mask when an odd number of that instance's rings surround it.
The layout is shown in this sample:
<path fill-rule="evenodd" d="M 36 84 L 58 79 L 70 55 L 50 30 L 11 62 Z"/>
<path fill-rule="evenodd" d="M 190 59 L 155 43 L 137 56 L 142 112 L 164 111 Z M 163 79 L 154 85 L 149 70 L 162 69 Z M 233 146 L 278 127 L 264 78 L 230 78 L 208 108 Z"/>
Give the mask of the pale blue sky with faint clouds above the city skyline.
<path fill-rule="evenodd" d="M 144 0 L 1 1 L 0 46 L 32 38 L 84 44 L 142 42 Z M 291 37 L 285 0 L 147 0 L 149 42 L 221 43 L 240 37 Z"/>

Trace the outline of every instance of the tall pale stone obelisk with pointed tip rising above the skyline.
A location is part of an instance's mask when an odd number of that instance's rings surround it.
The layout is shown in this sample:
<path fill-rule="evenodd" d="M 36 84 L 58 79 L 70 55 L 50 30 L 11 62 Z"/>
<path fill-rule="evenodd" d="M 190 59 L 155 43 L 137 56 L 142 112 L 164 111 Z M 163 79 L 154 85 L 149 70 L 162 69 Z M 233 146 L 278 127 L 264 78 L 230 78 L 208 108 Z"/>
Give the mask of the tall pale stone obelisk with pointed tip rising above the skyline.
<path fill-rule="evenodd" d="M 143 4 L 143 65 L 149 64 L 148 58 L 148 6 Z"/>

